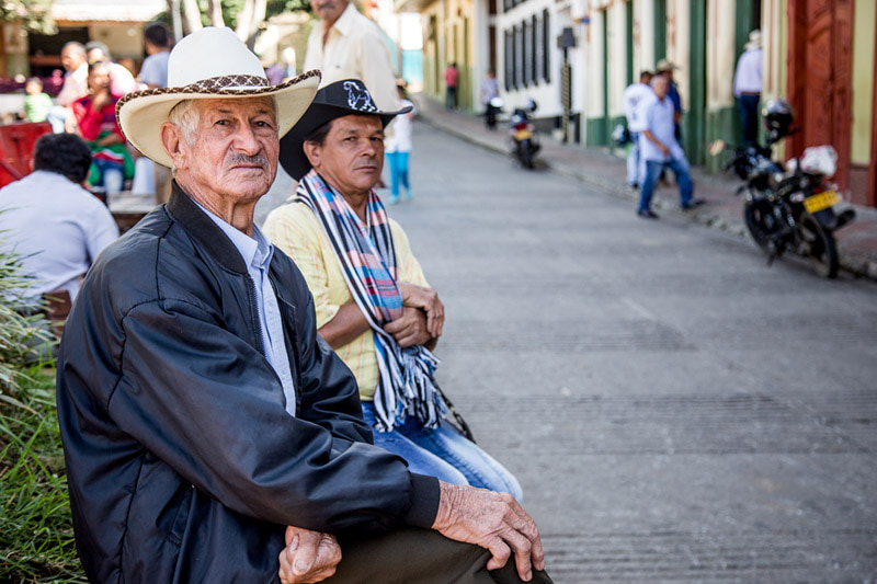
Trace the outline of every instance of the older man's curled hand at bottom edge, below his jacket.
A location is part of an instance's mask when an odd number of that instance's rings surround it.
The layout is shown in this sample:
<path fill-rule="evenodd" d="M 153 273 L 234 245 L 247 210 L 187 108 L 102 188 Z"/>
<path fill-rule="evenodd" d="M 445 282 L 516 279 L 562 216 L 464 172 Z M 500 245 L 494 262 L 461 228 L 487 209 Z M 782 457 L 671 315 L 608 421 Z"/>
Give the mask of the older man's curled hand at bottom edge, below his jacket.
<path fill-rule="evenodd" d="M 341 547 L 331 534 L 291 526 L 286 528 L 286 547 L 280 560 L 282 584 L 322 582 L 335 573 Z"/>

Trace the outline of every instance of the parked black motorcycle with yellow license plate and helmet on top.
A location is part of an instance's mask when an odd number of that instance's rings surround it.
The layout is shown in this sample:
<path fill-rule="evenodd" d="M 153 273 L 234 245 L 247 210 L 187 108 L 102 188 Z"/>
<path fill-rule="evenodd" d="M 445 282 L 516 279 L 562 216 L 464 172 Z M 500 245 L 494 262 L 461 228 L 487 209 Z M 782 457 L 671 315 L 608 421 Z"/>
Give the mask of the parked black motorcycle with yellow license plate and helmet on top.
<path fill-rule="evenodd" d="M 745 193 L 743 218 L 755 243 L 767 254 L 767 265 L 793 250 L 810 260 L 822 277 L 838 275 L 834 231 L 855 218 L 853 209 L 835 213 L 840 202 L 834 175 L 838 154 L 831 146 L 811 147 L 788 169 L 772 159 L 773 146 L 790 136 L 795 112 L 785 100 L 770 100 L 762 108 L 767 144 L 734 149 L 722 168 L 733 169 L 745 181 L 737 193 Z M 724 142 L 714 144 L 715 154 Z"/>

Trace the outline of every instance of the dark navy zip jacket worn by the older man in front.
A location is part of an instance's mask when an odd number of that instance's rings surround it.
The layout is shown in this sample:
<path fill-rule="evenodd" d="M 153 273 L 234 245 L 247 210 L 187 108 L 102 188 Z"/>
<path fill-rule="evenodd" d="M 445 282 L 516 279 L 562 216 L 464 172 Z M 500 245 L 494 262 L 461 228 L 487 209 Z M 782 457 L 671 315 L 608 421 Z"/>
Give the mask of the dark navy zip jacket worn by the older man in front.
<path fill-rule="evenodd" d="M 438 483 L 372 446 L 356 382 L 275 250 L 296 417 L 263 356 L 254 285 L 179 187 L 86 278 L 58 358 L 58 419 L 93 582 L 276 582 L 284 526 L 429 527 Z"/>

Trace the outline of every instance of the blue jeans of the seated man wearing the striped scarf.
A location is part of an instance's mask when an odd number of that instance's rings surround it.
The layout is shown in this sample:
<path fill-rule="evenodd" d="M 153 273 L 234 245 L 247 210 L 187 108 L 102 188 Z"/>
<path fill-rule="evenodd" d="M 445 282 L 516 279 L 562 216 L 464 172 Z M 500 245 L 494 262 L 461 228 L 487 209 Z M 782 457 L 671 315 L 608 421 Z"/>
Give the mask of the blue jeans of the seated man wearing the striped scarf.
<path fill-rule="evenodd" d="M 375 427 L 375 405 L 371 401 L 363 402 L 363 417 Z M 452 484 L 511 493 L 517 501 L 523 500 L 517 479 L 445 421 L 435 430 L 424 430 L 415 417 L 409 416 L 392 432 L 374 430 L 374 435 L 375 446 L 405 458 L 411 472 Z"/>

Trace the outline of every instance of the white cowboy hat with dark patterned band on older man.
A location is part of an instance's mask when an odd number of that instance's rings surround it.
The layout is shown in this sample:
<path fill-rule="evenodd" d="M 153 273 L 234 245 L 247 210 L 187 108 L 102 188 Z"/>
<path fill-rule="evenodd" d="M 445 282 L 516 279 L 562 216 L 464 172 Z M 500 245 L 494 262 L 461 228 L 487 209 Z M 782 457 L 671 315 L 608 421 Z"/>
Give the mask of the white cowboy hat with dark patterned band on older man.
<path fill-rule="evenodd" d="M 231 28 L 207 26 L 180 41 L 168 59 L 168 85 L 135 91 L 116 104 L 122 133 L 137 150 L 159 164 L 173 167 L 161 145 L 161 125 L 183 100 L 274 98 L 280 136 L 307 111 L 320 84 L 308 71 L 271 85 L 265 71 Z"/>

